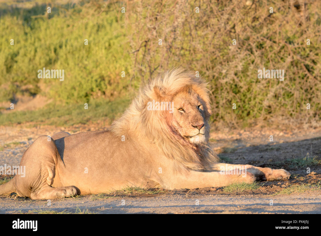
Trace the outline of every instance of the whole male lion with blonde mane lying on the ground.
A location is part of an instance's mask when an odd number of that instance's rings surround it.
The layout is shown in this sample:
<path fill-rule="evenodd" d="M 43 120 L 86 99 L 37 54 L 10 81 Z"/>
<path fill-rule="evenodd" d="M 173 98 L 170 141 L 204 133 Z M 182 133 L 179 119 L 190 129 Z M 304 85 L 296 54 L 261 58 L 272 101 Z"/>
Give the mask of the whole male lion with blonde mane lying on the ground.
<path fill-rule="evenodd" d="M 141 89 L 107 130 L 40 136 L 22 156 L 25 177 L 15 175 L 1 185 L 0 195 L 50 199 L 127 185 L 178 189 L 288 179 L 283 169 L 218 163 L 207 145 L 211 108 L 206 85 L 194 73 L 173 69 Z"/>

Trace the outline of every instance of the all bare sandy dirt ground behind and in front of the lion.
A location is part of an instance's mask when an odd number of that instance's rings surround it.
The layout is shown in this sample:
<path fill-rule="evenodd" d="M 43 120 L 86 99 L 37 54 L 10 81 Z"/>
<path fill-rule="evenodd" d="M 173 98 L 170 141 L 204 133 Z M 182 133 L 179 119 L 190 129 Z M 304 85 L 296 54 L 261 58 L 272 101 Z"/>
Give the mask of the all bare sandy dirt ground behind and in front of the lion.
<path fill-rule="evenodd" d="M 0 165 L 18 165 L 23 152 L 40 135 L 59 131 L 103 130 L 102 123 L 73 127 L 33 124 L 0 127 Z M 273 135 L 273 141 L 270 141 Z M 254 190 L 228 192 L 224 188 L 167 191 L 116 191 L 72 198 L 31 200 L 0 197 L 0 213 L 321 213 L 321 165 L 298 165 L 291 160 L 321 157 L 321 128 L 212 131 L 210 144 L 222 162 L 283 168 L 289 181 L 263 181 Z M 319 159 L 319 158 L 317 158 Z M 310 173 L 307 173 L 310 168 Z M 4 179 L 6 176 L 0 176 Z M 47 212 L 50 211 L 50 212 Z"/>

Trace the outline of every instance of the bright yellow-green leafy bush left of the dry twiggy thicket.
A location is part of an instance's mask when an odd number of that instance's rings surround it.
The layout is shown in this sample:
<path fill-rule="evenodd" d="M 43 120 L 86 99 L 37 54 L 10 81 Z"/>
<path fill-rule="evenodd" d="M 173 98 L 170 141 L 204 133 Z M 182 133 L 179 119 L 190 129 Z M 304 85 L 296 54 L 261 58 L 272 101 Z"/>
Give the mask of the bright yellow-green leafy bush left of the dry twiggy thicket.
<path fill-rule="evenodd" d="M 0 100 L 41 93 L 66 104 L 88 102 L 116 98 L 129 86 L 130 80 L 121 77 L 122 71 L 128 75 L 131 65 L 127 47 L 119 47 L 127 40 L 124 15 L 109 4 L 97 17 L 100 9 L 84 4 L 52 3 L 48 17 L 46 4 L 11 10 L 0 5 L 7 9 L 0 18 Z M 64 69 L 65 80 L 39 79 L 43 67 Z"/>

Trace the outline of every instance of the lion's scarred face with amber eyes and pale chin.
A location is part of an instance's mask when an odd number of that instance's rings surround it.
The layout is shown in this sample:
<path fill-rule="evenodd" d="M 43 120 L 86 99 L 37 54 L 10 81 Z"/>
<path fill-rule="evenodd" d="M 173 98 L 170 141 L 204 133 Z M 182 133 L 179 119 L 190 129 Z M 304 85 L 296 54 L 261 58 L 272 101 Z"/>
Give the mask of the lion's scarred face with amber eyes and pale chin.
<path fill-rule="evenodd" d="M 204 109 L 204 101 L 193 90 L 178 93 L 173 99 L 172 126 L 191 144 L 208 142 L 210 127 Z"/>

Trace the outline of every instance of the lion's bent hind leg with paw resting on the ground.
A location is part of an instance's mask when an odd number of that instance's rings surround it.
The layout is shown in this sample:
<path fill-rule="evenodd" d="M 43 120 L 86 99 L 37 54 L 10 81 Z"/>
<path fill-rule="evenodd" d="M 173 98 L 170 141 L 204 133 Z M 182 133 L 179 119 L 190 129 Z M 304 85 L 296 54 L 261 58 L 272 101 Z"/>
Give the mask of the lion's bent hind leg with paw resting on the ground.
<path fill-rule="evenodd" d="M 20 196 L 31 199 L 52 199 L 77 194 L 75 186 L 62 186 L 56 176 L 60 155 L 53 139 L 42 135 L 35 140 L 22 156 L 20 165 L 25 166 L 25 176 L 17 175 L 16 189 Z M 56 177 L 56 179 L 55 179 Z M 57 187 L 52 187 L 54 179 Z"/>

